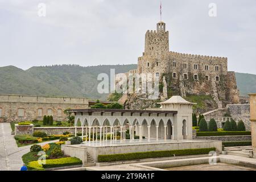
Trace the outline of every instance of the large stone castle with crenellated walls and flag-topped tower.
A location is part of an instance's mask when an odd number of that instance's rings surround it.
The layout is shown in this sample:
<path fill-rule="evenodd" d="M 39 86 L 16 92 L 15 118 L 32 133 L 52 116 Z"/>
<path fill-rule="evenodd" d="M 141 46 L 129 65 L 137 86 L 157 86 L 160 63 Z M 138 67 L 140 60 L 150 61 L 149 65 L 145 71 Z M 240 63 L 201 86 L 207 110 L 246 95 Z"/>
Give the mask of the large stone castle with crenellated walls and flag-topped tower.
<path fill-rule="evenodd" d="M 146 32 L 143 56 L 138 57 L 137 70 L 129 73 L 159 76 L 163 85 L 161 100 L 175 94 L 210 95 L 219 108 L 240 102 L 235 74 L 228 71 L 228 59 L 170 51 L 164 22 L 157 23 L 156 30 Z"/>

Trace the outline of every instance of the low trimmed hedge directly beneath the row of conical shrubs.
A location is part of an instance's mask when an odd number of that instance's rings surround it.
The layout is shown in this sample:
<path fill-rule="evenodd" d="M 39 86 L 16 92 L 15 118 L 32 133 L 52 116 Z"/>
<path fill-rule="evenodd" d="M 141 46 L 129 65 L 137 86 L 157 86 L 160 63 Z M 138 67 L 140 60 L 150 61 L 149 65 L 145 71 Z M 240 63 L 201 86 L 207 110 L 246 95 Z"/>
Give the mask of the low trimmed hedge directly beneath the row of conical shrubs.
<path fill-rule="evenodd" d="M 236 135 L 251 135 L 250 131 L 212 131 L 212 132 L 197 132 L 196 137 L 212 137 L 212 136 L 236 136 Z"/>

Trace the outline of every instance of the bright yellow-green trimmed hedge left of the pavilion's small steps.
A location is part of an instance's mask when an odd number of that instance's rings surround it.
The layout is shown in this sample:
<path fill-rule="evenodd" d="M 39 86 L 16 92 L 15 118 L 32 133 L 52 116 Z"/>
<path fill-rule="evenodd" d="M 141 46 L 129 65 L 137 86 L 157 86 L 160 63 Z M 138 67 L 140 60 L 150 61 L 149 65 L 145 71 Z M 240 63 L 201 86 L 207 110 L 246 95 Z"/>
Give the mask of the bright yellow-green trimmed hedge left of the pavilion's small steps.
<path fill-rule="evenodd" d="M 38 160 L 28 163 L 27 167 L 32 171 L 44 171 L 45 168 L 75 166 L 82 164 L 78 158 L 47 159 L 46 164 L 39 164 Z"/>

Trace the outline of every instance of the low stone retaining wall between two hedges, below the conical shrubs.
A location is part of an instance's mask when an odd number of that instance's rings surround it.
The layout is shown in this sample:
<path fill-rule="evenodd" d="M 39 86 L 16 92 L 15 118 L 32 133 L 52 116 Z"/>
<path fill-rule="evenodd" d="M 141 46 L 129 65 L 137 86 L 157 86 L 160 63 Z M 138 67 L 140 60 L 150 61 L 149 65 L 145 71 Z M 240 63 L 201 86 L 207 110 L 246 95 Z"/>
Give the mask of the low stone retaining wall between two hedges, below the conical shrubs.
<path fill-rule="evenodd" d="M 251 136 L 212 136 L 212 137 L 196 137 L 200 140 L 220 140 L 222 142 L 232 142 L 232 141 L 249 141 Z"/>

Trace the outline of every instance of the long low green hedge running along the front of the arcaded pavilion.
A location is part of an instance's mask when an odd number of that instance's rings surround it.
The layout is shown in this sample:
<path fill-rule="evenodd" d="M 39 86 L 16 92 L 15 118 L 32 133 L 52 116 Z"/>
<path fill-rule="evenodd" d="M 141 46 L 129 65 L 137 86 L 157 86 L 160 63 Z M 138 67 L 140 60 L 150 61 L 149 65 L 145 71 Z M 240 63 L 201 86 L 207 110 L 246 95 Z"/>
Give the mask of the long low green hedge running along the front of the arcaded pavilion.
<path fill-rule="evenodd" d="M 210 151 L 215 151 L 216 148 L 196 148 L 185 150 L 170 150 L 170 151 L 151 151 L 151 152 L 134 152 L 127 154 L 110 154 L 98 155 L 98 162 L 114 162 L 121 160 L 137 160 L 147 158 L 164 158 L 170 156 L 183 156 L 183 155 L 200 155 L 209 154 Z"/>

